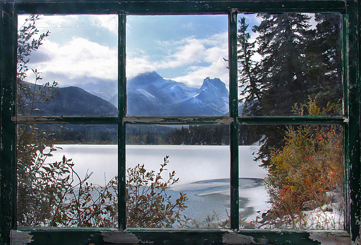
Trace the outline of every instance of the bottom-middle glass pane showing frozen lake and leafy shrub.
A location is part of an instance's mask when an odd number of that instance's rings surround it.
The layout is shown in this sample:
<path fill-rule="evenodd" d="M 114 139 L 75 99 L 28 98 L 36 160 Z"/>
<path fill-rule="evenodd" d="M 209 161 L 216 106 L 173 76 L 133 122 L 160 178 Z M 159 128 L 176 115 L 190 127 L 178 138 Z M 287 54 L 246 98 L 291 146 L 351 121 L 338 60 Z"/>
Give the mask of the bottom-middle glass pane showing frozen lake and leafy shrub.
<path fill-rule="evenodd" d="M 127 226 L 229 227 L 229 149 L 228 125 L 127 125 Z"/>

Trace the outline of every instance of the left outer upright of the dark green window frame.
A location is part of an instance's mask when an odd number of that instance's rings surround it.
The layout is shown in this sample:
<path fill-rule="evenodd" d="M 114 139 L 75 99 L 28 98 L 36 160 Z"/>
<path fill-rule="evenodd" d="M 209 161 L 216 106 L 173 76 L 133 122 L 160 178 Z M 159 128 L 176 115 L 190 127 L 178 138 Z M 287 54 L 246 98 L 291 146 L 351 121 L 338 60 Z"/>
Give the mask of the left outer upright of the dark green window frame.
<path fill-rule="evenodd" d="M 17 19 L 11 3 L 1 3 L 1 155 L 0 244 L 10 243 L 16 226 L 16 124 L 15 112 Z"/>

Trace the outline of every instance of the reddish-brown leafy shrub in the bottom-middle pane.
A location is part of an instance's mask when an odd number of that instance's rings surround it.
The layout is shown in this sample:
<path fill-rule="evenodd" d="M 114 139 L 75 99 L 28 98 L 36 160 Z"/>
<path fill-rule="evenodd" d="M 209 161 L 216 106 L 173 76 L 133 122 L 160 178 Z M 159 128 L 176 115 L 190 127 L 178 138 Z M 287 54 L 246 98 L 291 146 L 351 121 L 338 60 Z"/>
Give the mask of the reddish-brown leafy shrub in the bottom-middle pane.
<path fill-rule="evenodd" d="M 129 227 L 177 227 L 185 223 L 181 215 L 186 206 L 188 197 L 179 192 L 179 198 L 171 202 L 171 196 L 166 189 L 178 181 L 175 171 L 169 172 L 169 177 L 163 179 L 161 173 L 167 170 L 168 156 L 160 164 L 158 172 L 147 171 L 144 165 L 136 165 L 127 169 L 126 196 L 127 196 L 127 224 Z"/>

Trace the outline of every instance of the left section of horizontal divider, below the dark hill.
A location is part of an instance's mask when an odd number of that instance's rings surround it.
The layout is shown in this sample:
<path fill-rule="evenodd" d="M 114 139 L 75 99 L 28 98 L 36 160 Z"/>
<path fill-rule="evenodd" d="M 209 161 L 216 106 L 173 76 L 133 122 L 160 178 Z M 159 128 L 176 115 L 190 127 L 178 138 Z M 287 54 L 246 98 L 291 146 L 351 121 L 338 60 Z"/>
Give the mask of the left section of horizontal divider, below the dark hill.
<path fill-rule="evenodd" d="M 15 116 L 18 124 L 117 124 L 118 117 Z"/>

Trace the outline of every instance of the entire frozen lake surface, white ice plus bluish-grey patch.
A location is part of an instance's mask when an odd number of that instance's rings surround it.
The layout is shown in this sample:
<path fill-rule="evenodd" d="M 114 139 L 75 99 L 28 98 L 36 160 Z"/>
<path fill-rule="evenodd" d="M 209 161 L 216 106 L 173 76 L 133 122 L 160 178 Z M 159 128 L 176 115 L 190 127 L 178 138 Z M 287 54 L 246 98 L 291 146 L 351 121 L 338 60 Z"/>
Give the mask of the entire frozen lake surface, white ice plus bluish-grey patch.
<path fill-rule="evenodd" d="M 63 150 L 54 152 L 60 160 L 63 155 L 71 158 L 74 169 L 82 177 L 93 172 L 88 182 L 104 185 L 117 174 L 116 145 L 57 145 Z M 267 171 L 253 160 L 255 146 L 239 146 L 240 211 L 255 218 L 267 210 L 266 191 L 261 185 Z M 174 197 L 179 191 L 187 193 L 187 217 L 202 221 L 213 210 L 221 219 L 227 217 L 230 208 L 230 148 L 205 145 L 127 145 L 126 167 L 144 164 L 145 169 L 157 171 L 168 155 L 167 169 L 175 170 L 179 182 L 169 193 Z M 166 173 L 168 174 L 168 173 Z M 257 213 L 257 211 L 260 211 Z"/>

